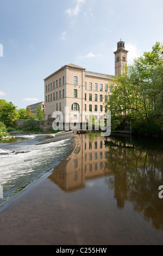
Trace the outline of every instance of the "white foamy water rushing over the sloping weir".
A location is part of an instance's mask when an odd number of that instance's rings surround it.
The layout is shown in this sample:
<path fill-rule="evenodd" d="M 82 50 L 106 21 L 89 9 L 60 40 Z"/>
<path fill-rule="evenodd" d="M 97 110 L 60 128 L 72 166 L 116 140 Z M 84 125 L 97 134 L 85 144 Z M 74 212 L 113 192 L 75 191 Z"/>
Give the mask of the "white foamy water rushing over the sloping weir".
<path fill-rule="evenodd" d="M 21 142 L 0 144 L 0 185 L 3 186 L 3 200 L 51 170 L 68 153 L 71 144 L 71 138 L 46 143 L 55 136 L 46 135 L 45 141 L 45 135 L 17 136 L 20 137 L 24 139 Z"/>

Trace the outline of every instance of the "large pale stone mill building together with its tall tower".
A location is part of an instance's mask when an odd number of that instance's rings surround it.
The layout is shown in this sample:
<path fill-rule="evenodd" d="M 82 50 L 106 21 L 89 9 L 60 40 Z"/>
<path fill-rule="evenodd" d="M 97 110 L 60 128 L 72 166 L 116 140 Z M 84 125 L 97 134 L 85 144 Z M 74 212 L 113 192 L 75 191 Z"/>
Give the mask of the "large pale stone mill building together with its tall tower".
<path fill-rule="evenodd" d="M 124 67 L 127 65 L 127 53 L 125 43 L 118 42 L 117 51 L 114 52 L 116 76 L 124 72 Z M 82 120 L 83 112 L 93 112 L 96 119 L 96 113 L 106 111 L 104 102 L 107 100 L 108 93 L 111 94 L 107 84 L 112 78 L 114 75 L 87 71 L 74 64 L 62 66 L 44 79 L 45 120 L 52 118 L 55 111 L 65 114 L 65 109 L 66 112 L 67 109 L 69 113 L 73 112 L 73 120 L 80 116 L 81 123 L 84 121 Z"/>

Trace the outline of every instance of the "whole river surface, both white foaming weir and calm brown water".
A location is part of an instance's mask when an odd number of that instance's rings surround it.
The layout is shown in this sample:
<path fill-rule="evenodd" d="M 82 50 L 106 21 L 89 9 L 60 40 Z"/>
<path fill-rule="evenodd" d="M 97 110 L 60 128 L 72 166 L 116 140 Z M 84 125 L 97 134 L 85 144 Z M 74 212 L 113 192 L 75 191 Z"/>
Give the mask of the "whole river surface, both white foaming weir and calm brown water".
<path fill-rule="evenodd" d="M 37 192 L 39 200 L 34 194 L 30 201 L 23 200 L 30 203 L 30 211 L 26 203 L 21 206 L 26 222 L 19 227 L 15 219 L 12 233 L 3 233 L 2 241 L 8 243 L 10 237 L 13 244 L 163 245 L 161 139 L 100 133 L 59 142 L 46 135 L 16 139 L 0 144 L 2 202 L 44 173 L 49 175 L 43 192 Z M 12 225 L 13 220 L 7 220 Z"/>

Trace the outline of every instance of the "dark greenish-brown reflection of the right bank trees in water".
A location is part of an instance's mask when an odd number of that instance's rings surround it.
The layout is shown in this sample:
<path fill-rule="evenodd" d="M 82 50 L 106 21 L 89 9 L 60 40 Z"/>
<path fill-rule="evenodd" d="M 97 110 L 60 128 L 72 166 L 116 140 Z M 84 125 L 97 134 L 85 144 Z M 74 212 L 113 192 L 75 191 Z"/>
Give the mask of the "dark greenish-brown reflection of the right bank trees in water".
<path fill-rule="evenodd" d="M 108 168 L 114 176 L 105 178 L 114 190 L 117 207 L 124 208 L 131 202 L 134 210 L 143 212 L 146 220 L 156 229 L 163 229 L 163 199 L 158 188 L 163 185 L 163 150 L 157 139 L 110 137 Z"/>

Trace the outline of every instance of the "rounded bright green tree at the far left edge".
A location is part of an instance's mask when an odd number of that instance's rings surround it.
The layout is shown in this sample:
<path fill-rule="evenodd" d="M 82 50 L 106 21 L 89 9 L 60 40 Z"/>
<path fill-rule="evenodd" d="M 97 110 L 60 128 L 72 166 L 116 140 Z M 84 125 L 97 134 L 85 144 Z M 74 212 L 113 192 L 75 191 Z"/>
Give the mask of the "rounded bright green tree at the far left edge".
<path fill-rule="evenodd" d="M 8 127 L 13 126 L 18 118 L 18 111 L 12 102 L 0 100 L 0 120 Z"/>

